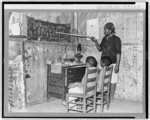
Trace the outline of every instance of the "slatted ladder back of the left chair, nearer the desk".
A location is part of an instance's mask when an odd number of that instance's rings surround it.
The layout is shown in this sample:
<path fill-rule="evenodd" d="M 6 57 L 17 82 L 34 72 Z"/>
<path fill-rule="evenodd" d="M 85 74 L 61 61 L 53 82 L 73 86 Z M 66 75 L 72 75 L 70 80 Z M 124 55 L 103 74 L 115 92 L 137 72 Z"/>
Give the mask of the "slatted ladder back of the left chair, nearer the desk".
<path fill-rule="evenodd" d="M 96 94 L 97 88 L 97 68 L 86 68 L 84 80 L 84 95 Z"/>

